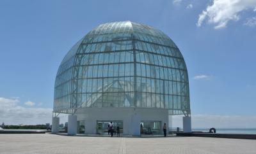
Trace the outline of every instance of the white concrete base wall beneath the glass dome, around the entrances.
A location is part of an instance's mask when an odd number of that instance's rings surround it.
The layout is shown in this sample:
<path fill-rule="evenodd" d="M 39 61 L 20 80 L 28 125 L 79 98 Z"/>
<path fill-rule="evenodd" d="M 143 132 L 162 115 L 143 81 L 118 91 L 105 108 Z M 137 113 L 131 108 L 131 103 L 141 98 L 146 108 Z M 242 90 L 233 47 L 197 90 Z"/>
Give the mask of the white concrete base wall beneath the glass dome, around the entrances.
<path fill-rule="evenodd" d="M 96 134 L 97 120 L 122 120 L 123 134 L 140 136 L 141 121 L 160 121 L 168 126 L 168 110 L 160 108 L 79 108 L 77 121 L 84 120 L 84 134 Z"/>

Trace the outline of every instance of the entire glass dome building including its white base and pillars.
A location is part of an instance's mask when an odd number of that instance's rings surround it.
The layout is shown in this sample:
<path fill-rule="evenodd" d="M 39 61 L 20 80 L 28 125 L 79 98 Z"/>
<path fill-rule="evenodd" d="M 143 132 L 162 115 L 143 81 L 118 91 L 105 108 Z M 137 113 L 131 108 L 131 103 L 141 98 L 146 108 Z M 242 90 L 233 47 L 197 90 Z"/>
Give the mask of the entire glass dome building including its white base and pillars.
<path fill-rule="evenodd" d="M 189 81 L 182 54 L 172 39 L 148 25 L 99 25 L 62 60 L 53 113 L 52 132 L 58 132 L 58 113 L 70 115 L 68 134 L 104 134 L 110 121 L 124 134 L 140 134 L 140 124 L 145 132 L 161 134 L 169 115 L 185 115 L 189 131 Z"/>

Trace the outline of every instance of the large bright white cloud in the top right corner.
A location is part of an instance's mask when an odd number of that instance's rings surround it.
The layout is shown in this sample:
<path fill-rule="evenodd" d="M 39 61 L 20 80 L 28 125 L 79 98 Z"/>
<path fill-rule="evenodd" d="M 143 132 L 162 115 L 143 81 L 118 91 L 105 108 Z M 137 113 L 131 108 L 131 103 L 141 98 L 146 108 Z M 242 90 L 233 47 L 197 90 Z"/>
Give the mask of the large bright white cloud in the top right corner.
<path fill-rule="evenodd" d="M 196 25 L 200 27 L 207 20 L 209 24 L 215 25 L 215 29 L 221 29 L 227 27 L 230 20 L 239 20 L 242 11 L 255 8 L 255 0 L 213 0 L 212 5 L 199 15 Z"/>

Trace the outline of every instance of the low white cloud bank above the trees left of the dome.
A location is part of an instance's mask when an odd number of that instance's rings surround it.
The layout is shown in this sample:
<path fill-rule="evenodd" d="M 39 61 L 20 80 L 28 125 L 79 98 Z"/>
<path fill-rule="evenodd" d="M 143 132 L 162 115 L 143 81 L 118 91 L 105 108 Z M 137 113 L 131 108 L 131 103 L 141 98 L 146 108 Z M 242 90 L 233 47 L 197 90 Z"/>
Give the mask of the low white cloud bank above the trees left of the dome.
<path fill-rule="evenodd" d="M 19 106 L 19 99 L 0 97 L 0 123 L 12 125 L 29 125 L 52 122 L 52 108 L 25 108 Z M 61 115 L 61 123 L 67 122 L 67 117 Z"/>

